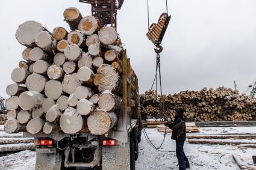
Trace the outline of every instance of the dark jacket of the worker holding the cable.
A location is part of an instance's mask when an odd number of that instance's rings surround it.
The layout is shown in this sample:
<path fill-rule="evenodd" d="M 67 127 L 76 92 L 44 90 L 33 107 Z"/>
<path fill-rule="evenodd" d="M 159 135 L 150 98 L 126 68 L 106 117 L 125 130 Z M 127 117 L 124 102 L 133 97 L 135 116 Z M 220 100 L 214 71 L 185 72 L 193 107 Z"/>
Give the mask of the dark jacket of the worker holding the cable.
<path fill-rule="evenodd" d="M 172 129 L 172 139 L 186 141 L 186 124 L 183 118 L 175 118 L 174 123 L 167 122 L 166 126 Z"/>

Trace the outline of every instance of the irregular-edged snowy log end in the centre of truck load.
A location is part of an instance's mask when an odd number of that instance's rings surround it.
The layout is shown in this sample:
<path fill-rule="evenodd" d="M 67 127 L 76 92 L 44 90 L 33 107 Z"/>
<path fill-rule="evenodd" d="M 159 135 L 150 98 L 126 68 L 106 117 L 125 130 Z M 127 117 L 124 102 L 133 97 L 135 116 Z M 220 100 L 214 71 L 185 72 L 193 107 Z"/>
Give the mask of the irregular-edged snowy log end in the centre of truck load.
<path fill-rule="evenodd" d="M 82 82 L 77 78 L 76 73 L 66 74 L 62 82 L 63 91 L 68 94 L 75 93 L 76 88 L 81 84 Z"/>

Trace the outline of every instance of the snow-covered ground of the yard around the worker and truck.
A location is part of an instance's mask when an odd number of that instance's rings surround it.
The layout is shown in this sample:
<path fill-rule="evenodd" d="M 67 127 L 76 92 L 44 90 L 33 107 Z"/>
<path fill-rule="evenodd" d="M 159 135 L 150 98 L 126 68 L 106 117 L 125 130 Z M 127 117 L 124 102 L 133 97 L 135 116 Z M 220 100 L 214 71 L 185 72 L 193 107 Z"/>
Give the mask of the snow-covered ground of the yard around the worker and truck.
<path fill-rule="evenodd" d="M 1 127 L 0 127 L 1 128 Z M 202 131 L 202 129 L 205 129 Z M 163 133 L 157 132 L 157 129 L 146 129 L 149 138 L 155 145 L 160 145 L 163 139 Z M 203 127 L 198 134 L 225 134 L 225 133 L 254 133 L 255 127 Z M 191 134 L 194 135 L 195 133 Z M 232 157 L 233 153 L 242 156 L 244 160 L 251 161 L 255 149 L 239 150 L 233 145 L 184 145 L 185 153 L 190 161 L 193 170 L 211 170 L 211 169 L 232 169 L 239 170 Z M 178 169 L 178 160 L 175 153 L 175 141 L 166 136 L 163 147 L 160 151 L 150 147 L 144 135 L 139 144 L 139 159 L 136 161 L 136 169 Z M 0 169 L 34 169 L 35 164 L 34 151 L 22 151 L 9 156 L 0 157 Z"/>

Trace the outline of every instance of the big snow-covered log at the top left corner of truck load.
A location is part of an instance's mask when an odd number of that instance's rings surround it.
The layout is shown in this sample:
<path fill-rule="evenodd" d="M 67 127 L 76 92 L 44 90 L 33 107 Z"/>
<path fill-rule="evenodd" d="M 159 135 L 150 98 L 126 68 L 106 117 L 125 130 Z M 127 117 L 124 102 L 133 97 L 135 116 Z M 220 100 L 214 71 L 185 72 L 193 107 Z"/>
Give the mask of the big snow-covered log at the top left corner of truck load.
<path fill-rule="evenodd" d="M 44 31 L 43 26 L 33 20 L 23 22 L 16 31 L 16 39 L 20 44 L 27 47 L 36 46 L 35 40 L 39 32 Z"/>

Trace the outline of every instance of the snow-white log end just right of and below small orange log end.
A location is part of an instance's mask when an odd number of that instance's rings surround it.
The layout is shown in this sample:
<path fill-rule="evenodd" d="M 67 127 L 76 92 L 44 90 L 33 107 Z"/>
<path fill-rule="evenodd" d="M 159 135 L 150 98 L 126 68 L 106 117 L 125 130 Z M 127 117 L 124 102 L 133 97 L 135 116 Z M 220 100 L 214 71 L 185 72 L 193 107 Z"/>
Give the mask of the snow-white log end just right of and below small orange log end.
<path fill-rule="evenodd" d="M 77 61 L 82 55 L 82 49 L 75 44 L 70 44 L 64 49 L 64 55 L 69 61 Z"/>

